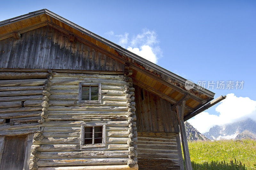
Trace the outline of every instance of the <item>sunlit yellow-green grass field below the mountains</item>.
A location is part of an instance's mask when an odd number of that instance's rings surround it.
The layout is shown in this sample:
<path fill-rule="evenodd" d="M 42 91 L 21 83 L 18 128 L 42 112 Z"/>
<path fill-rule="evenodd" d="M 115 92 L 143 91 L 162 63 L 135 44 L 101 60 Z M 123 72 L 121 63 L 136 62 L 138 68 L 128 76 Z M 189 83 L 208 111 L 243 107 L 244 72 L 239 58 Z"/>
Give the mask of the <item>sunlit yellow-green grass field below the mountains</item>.
<path fill-rule="evenodd" d="M 256 169 L 256 140 L 194 141 L 188 142 L 188 148 L 191 161 L 194 163 L 193 169 L 205 169 L 206 164 L 215 166 L 213 169 L 229 169 L 224 166 L 224 161 L 225 164 L 233 166 L 239 165 L 241 161 L 245 169 Z M 238 164 L 235 163 L 235 159 Z M 241 166 L 228 166 L 230 169 L 241 169 Z"/>

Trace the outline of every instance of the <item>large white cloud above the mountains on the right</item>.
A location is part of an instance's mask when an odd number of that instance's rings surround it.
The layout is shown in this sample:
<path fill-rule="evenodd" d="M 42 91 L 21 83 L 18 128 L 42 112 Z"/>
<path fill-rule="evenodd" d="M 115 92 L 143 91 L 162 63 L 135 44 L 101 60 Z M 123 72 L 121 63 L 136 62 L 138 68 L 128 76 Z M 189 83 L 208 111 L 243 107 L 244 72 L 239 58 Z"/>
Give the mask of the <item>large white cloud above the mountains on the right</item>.
<path fill-rule="evenodd" d="M 256 120 L 256 101 L 248 97 L 236 97 L 234 93 L 227 94 L 227 98 L 215 110 L 220 115 L 202 112 L 188 122 L 200 133 L 204 133 L 214 125 L 232 123 L 247 117 Z"/>

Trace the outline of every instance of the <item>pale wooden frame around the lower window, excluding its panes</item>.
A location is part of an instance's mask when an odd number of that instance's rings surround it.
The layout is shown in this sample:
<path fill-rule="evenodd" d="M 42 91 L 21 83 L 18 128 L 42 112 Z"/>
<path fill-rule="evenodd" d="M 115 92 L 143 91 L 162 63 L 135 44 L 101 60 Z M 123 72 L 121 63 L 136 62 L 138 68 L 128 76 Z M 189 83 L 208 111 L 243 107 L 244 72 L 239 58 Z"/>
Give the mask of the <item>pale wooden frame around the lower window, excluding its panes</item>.
<path fill-rule="evenodd" d="M 84 127 L 95 127 L 95 126 L 102 126 L 102 144 L 84 144 Z M 92 136 L 94 137 L 94 132 L 92 133 Z M 105 147 L 105 146 L 106 146 L 106 123 L 84 122 L 81 124 L 80 148 L 96 148 L 96 147 Z"/>

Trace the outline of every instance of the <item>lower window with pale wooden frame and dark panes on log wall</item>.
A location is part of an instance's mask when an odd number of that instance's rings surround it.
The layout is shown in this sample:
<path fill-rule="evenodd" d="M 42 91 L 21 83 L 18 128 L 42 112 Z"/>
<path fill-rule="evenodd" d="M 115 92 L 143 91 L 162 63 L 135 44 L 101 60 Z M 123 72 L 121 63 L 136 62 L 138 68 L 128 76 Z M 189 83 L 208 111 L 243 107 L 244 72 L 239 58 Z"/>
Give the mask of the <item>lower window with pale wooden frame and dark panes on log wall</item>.
<path fill-rule="evenodd" d="M 106 146 L 106 123 L 86 123 L 81 125 L 81 148 Z"/>

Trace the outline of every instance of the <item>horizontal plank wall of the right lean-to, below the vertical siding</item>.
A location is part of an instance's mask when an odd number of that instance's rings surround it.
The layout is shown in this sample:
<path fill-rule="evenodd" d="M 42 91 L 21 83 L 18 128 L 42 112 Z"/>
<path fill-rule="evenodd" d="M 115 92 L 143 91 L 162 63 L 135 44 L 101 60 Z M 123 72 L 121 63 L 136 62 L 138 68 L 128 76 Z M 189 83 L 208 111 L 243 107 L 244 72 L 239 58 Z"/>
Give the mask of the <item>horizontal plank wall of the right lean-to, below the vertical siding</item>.
<path fill-rule="evenodd" d="M 138 131 L 139 169 L 180 169 L 176 133 Z"/>

